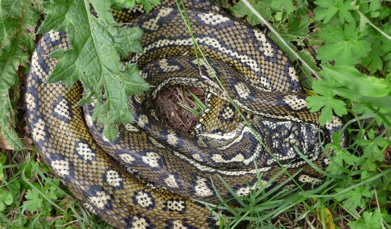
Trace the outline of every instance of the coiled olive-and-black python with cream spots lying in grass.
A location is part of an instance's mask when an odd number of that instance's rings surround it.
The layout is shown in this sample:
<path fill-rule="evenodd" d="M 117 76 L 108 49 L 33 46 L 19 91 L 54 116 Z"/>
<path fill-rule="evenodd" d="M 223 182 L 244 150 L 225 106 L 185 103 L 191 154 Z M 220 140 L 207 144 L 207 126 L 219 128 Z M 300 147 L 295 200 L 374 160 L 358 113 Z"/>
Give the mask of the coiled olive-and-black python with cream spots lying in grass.
<path fill-rule="evenodd" d="M 212 182 L 223 198 L 232 197 L 219 177 L 238 195 L 248 195 L 257 188 L 254 161 L 263 184 L 279 176 L 268 189 L 288 181 L 255 133 L 289 165 L 286 171 L 297 173 L 300 185 L 320 184 L 321 174 L 295 148 L 325 169 L 329 160 L 321 147 L 331 142 L 341 122 L 334 118 L 319 128 L 319 112 L 306 108 L 295 70 L 281 49 L 264 33 L 207 1 L 185 1 L 208 67 L 194 57 L 178 9 L 163 2 L 163 7 L 128 21 L 127 26 L 144 30 L 144 51 L 127 61 L 137 63 L 140 75 L 153 87 L 129 98 L 136 123 L 120 125 L 114 142 L 92 122 L 92 105 L 76 105 L 83 93 L 80 83 L 71 89 L 61 82 L 45 83 L 57 63 L 47 54 L 67 49 L 68 41 L 64 32 L 43 35 L 32 57 L 25 98 L 32 137 L 48 166 L 88 209 L 119 228 L 218 227 L 219 219 L 194 199 L 219 203 Z M 114 16 L 123 21 L 128 13 L 122 10 Z M 208 104 L 193 134 L 173 131 L 154 117 L 154 99 L 171 84 L 196 85 L 207 92 Z M 232 109 L 226 94 L 253 130 Z M 284 187 L 294 185 L 286 182 Z"/>

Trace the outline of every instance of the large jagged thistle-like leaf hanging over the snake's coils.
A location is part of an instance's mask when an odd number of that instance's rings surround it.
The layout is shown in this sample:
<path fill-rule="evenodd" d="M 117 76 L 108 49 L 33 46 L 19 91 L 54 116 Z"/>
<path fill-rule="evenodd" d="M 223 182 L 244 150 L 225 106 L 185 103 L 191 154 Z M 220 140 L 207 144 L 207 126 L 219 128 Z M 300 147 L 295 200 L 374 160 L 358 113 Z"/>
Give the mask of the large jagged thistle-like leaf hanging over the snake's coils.
<path fill-rule="evenodd" d="M 110 2 L 90 2 L 98 18 L 90 16 L 87 1 L 61 0 L 44 4 L 47 16 L 39 32 L 65 30 L 71 47 L 50 53 L 58 64 L 46 82 L 63 81 L 69 88 L 75 80 L 80 80 L 86 90 L 80 104 L 91 101 L 92 97 L 97 99 L 93 118 L 108 126 L 129 123 L 133 116 L 128 96 L 142 93 L 149 85 L 138 75 L 135 65 L 123 68 L 119 54 L 127 56 L 129 52 L 142 51 L 142 31 L 138 27 L 118 27 Z M 105 104 L 102 104 L 103 99 Z M 110 134 L 115 136 L 112 131 Z"/>

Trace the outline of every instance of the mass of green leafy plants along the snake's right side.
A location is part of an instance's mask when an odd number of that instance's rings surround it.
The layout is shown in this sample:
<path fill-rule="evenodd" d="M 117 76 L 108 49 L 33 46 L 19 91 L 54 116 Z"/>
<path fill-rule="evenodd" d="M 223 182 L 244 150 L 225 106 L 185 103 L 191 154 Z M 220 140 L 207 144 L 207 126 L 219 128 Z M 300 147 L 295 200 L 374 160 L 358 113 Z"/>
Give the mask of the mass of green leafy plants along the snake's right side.
<path fill-rule="evenodd" d="M 337 214 L 336 207 L 344 209 L 352 217 L 348 223 L 352 228 L 389 228 L 391 215 L 386 206 L 391 170 L 384 159 L 391 146 L 391 5 L 384 1 L 348 0 L 292 3 L 294 11 L 285 14 L 289 8 L 278 10 L 268 1 L 252 2 L 255 10 L 273 23 L 269 26 L 297 51 L 300 61 L 318 74 L 319 80 L 311 83 L 308 77 L 312 72 L 306 67 L 299 71 L 306 80 L 303 85 L 313 90 L 310 93 L 321 95 L 307 98 L 311 111 L 321 110 L 321 125 L 333 115 L 348 122 L 344 135 L 349 147 L 340 148 L 341 132 L 334 133 L 334 144 L 325 147 L 334 152 L 326 177 L 336 184 L 325 185 L 326 191 L 321 195 L 312 191 L 302 194 L 334 203 L 328 206 L 332 215 Z M 244 0 L 231 11 L 237 16 L 247 15 L 251 24 L 260 22 Z M 283 45 L 274 34 L 269 36 L 280 47 Z M 291 53 L 288 56 L 296 60 Z M 300 66 L 299 62 L 294 64 Z M 335 220 L 334 226 L 338 225 Z"/>

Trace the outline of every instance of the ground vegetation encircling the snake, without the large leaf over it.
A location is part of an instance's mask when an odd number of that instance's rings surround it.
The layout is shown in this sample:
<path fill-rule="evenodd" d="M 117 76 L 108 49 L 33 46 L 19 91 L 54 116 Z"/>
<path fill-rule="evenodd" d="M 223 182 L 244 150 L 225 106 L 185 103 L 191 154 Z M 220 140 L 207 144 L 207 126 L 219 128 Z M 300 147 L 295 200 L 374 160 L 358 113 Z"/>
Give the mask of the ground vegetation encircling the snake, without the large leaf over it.
<path fill-rule="evenodd" d="M 220 4 L 234 16 L 260 23 L 245 2 Z M 9 142 L 0 156 L 0 228 L 111 228 L 50 173 L 23 129 L 17 89 L 24 85 L 37 40 L 34 31 L 41 24 L 42 3 L 35 3 L 0 2 L 0 130 Z M 314 95 L 309 106 L 322 109 L 322 122 L 333 112 L 342 117 L 348 147 L 326 146 L 335 155 L 325 183 L 314 190 L 276 194 L 260 186 L 249 197 L 236 196 L 238 208 L 223 201 L 207 207 L 232 211 L 222 228 L 242 228 L 244 222 L 248 228 L 391 228 L 391 2 L 251 4 L 265 26 L 276 31 L 270 37 L 288 53 L 306 91 Z M 338 142 L 342 136 L 333 137 Z"/>

